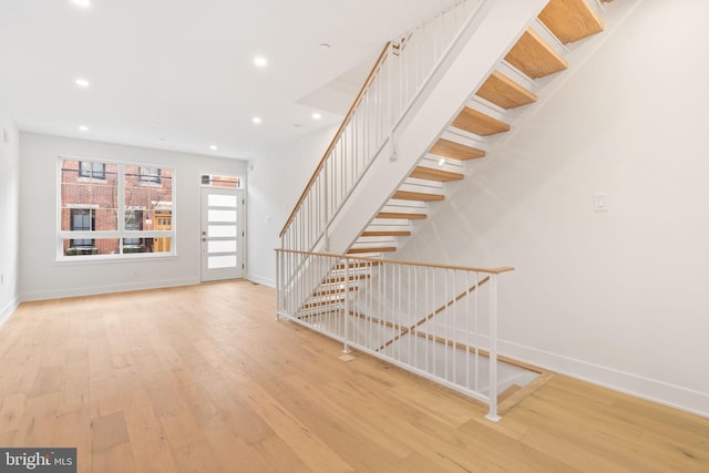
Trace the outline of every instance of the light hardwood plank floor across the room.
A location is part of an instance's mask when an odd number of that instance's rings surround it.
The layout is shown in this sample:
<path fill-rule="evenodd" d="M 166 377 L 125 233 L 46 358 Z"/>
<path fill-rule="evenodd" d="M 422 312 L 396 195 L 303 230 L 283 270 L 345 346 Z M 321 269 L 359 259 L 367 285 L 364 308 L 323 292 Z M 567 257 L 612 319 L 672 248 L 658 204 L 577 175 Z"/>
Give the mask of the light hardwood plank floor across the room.
<path fill-rule="evenodd" d="M 0 446 L 80 472 L 709 472 L 709 419 L 556 376 L 485 408 L 287 321 L 248 281 L 23 304 Z"/>

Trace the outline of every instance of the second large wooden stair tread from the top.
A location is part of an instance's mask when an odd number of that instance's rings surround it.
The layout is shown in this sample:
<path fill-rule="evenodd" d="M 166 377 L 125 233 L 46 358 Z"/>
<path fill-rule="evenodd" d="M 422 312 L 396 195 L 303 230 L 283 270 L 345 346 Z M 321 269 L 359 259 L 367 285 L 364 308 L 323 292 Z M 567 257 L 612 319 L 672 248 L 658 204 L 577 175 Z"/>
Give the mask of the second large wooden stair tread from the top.
<path fill-rule="evenodd" d="M 566 69 L 567 63 L 534 30 L 528 29 L 505 56 L 505 61 L 532 79 Z"/>

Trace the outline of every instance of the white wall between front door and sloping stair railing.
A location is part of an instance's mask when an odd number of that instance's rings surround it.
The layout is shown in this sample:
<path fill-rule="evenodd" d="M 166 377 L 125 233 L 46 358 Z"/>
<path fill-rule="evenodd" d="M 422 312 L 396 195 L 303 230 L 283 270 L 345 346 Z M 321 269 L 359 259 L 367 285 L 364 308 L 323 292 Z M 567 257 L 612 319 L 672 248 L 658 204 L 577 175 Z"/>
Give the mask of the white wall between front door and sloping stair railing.
<path fill-rule="evenodd" d="M 330 126 L 314 132 L 249 162 L 247 278 L 276 286 L 278 234 L 336 131 Z"/>

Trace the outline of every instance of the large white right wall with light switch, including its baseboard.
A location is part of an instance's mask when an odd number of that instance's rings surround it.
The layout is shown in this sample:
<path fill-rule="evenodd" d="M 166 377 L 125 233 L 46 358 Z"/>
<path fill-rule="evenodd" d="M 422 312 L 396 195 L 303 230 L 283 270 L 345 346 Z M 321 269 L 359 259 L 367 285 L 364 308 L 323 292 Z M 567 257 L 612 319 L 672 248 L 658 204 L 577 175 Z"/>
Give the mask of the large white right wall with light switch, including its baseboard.
<path fill-rule="evenodd" d="M 708 17 L 709 2 L 641 2 L 400 255 L 516 267 L 507 354 L 703 415 Z"/>

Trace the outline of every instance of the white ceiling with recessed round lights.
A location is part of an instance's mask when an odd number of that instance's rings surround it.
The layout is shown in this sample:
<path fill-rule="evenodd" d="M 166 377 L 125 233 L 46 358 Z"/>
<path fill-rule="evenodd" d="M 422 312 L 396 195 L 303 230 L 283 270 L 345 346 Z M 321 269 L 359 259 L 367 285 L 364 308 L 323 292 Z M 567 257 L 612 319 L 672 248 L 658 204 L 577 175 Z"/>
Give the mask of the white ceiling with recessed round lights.
<path fill-rule="evenodd" d="M 386 41 L 452 3 L 0 0 L 0 110 L 23 131 L 255 158 L 338 123 Z"/>

